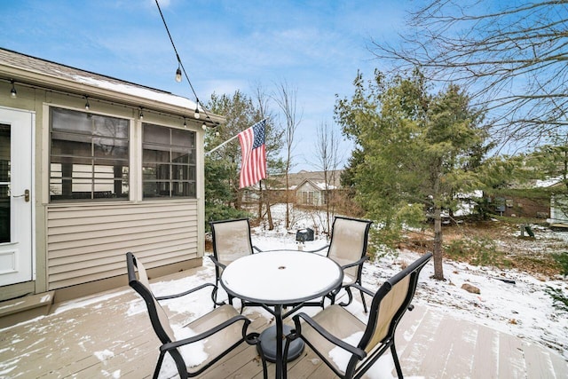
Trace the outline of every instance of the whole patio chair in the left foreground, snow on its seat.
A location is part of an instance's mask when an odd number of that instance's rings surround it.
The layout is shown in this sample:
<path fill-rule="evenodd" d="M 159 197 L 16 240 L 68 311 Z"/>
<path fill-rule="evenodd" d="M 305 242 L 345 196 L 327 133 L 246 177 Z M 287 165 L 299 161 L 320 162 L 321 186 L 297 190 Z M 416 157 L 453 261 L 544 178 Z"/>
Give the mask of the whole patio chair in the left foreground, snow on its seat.
<path fill-rule="evenodd" d="M 159 301 L 189 295 L 202 288 L 214 288 L 215 285 L 205 283 L 181 294 L 156 297 L 150 288 L 144 265 L 130 252 L 126 254 L 126 265 L 128 268 L 129 285 L 131 288 L 134 288 L 136 292 L 138 292 L 138 295 L 142 296 L 146 302 L 152 327 L 154 328 L 155 334 L 162 342 L 162 346 L 160 346 L 160 357 L 154 369 L 154 379 L 160 374 L 166 353 L 170 353 L 171 358 L 176 363 L 180 378 L 185 379 L 187 377 L 200 375 L 243 342 L 250 345 L 260 343 L 258 333 L 253 332 L 247 334 L 250 320 L 239 314 L 233 306 L 227 304 L 214 308 L 213 311 L 201 316 L 197 320 L 193 320 L 185 326 L 191 336 L 177 339 L 174 334 L 174 329 L 170 325 L 168 315 L 162 309 Z M 136 274 L 137 271 L 138 278 Z M 202 351 L 201 355 L 206 358 L 202 359 L 199 363 L 193 361 L 199 360 L 200 358 L 196 356 L 188 357 L 187 353 L 183 353 L 182 351 L 186 346 L 192 346 L 193 353 Z M 264 379 L 266 379 L 266 362 L 262 351 L 260 351 L 260 355 L 263 364 Z M 192 359 L 192 361 L 188 364 L 185 359 Z"/>

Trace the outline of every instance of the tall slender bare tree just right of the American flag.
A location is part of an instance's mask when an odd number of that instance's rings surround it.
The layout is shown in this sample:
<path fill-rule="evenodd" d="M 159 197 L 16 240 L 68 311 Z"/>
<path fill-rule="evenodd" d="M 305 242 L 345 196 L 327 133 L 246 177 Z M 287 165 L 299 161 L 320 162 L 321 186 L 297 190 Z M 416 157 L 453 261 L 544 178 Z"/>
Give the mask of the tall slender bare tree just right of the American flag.
<path fill-rule="evenodd" d="M 278 84 L 276 94 L 274 95 L 274 101 L 280 107 L 280 110 L 284 114 L 285 122 L 284 125 L 284 144 L 286 148 L 286 157 L 284 162 L 284 171 L 286 174 L 286 228 L 290 227 L 290 199 L 289 199 L 289 173 L 292 168 L 292 152 L 294 150 L 294 134 L 296 133 L 296 128 L 302 120 L 302 114 L 297 114 L 296 109 L 297 100 L 297 89 L 290 88 L 287 82 Z"/>

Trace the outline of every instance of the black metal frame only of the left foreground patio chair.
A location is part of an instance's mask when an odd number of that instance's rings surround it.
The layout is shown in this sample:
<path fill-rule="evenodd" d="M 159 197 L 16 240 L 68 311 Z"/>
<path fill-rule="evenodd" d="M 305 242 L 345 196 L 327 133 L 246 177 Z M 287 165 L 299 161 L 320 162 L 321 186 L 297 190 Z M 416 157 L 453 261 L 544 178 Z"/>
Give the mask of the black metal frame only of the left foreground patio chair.
<path fill-rule="evenodd" d="M 127 262 L 127 268 L 128 268 L 129 285 L 130 285 L 131 288 L 134 288 L 134 290 L 136 290 L 136 292 L 138 292 L 138 295 L 142 296 L 142 298 L 144 299 L 144 301 L 146 303 L 147 310 L 148 310 L 148 314 L 150 316 L 150 321 L 152 323 L 152 327 L 154 328 L 154 332 L 156 333 L 156 335 L 158 336 L 158 338 L 162 342 L 162 346 L 160 346 L 160 357 L 158 358 L 158 362 L 156 363 L 156 367 L 154 369 L 154 376 L 153 376 L 154 379 L 156 379 L 158 377 L 158 375 L 160 374 L 160 369 L 162 367 L 162 362 L 163 362 L 163 359 L 164 359 L 166 353 L 170 353 L 170 356 L 172 357 L 172 359 L 174 359 L 174 362 L 176 363 L 176 367 L 177 367 L 177 372 L 178 372 L 180 378 L 185 379 L 185 378 L 188 378 L 188 377 L 201 375 L 201 373 L 203 373 L 209 367 L 213 366 L 215 363 L 217 363 L 217 361 L 219 359 L 222 359 L 223 357 L 225 357 L 225 355 L 227 355 L 229 352 L 233 351 L 233 349 L 235 349 L 237 346 L 239 346 L 243 342 L 246 342 L 250 345 L 256 345 L 256 344 L 260 343 L 260 340 L 258 339 L 258 336 L 259 336 L 258 333 L 252 332 L 252 333 L 247 334 L 247 329 L 248 329 L 248 325 L 250 324 L 250 320 L 248 320 L 246 317 L 244 317 L 241 314 L 235 315 L 230 320 L 225 320 L 221 324 L 217 325 L 215 328 L 209 328 L 209 330 L 204 331 L 204 332 L 202 332 L 202 333 L 200 333 L 196 336 L 192 336 L 192 337 L 185 338 L 185 339 L 178 340 L 178 341 L 172 341 L 172 339 L 168 335 L 168 332 L 162 326 L 162 320 L 161 320 L 159 312 L 156 308 L 156 304 L 158 304 L 158 306 L 159 306 L 159 303 L 158 303 L 159 301 L 173 299 L 173 298 L 177 298 L 177 297 L 181 297 L 181 296 L 186 296 L 186 295 L 192 294 L 192 293 L 194 293 L 194 292 L 196 292 L 196 291 L 198 291 L 202 288 L 212 287 L 212 288 L 214 288 L 213 291 L 215 291 L 215 288 L 217 288 L 217 286 L 212 284 L 212 283 L 205 283 L 205 284 L 201 284 L 201 286 L 189 289 L 189 290 L 187 290 L 183 293 L 177 294 L 177 295 L 154 296 L 151 289 L 146 288 L 146 286 L 142 282 L 140 282 L 137 278 L 136 269 L 138 268 L 138 265 L 140 265 L 140 263 L 137 262 L 136 257 L 134 257 L 134 255 L 130 252 L 126 253 L 126 262 Z M 213 292 L 211 293 L 211 298 L 213 300 L 214 308 L 215 308 L 215 299 L 213 298 Z M 223 306 L 228 307 L 228 306 L 231 306 L 231 305 L 223 305 Z M 207 317 L 208 314 L 201 316 L 201 317 Z M 184 360 L 183 356 L 177 350 L 177 348 L 184 346 L 184 345 L 187 345 L 187 344 L 190 344 L 190 343 L 195 343 L 197 341 L 206 340 L 210 336 L 213 336 L 217 333 L 223 333 L 225 328 L 228 328 L 228 327 L 232 326 L 233 324 L 235 324 L 237 322 L 242 322 L 242 338 L 239 341 L 237 341 L 236 343 L 233 343 L 231 346 L 227 347 L 224 351 L 222 351 L 219 355 L 217 355 L 217 357 L 211 359 L 203 367 L 199 368 L 196 371 L 190 372 L 185 365 L 185 360 Z M 264 379 L 266 379 L 267 378 L 266 362 L 265 362 L 264 356 L 262 355 L 262 351 L 260 351 L 260 355 L 261 355 L 261 360 L 262 360 L 262 365 L 263 365 Z"/>

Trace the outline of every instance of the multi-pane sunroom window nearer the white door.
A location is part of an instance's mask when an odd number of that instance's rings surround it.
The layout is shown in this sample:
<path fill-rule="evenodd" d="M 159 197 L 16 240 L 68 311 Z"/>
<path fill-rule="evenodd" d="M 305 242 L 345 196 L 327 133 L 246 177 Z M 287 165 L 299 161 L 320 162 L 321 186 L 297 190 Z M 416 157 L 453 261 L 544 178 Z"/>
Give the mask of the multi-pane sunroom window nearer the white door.
<path fill-rule="evenodd" d="M 129 196 L 129 121 L 51 107 L 50 201 Z"/>

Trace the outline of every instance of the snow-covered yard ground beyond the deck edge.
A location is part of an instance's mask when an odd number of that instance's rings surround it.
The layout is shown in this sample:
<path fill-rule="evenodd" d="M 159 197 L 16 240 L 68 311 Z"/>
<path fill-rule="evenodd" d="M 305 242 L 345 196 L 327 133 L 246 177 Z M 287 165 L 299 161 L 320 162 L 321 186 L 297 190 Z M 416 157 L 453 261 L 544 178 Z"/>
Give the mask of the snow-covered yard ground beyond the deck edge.
<path fill-rule="evenodd" d="M 283 206 L 272 208 L 272 215 L 278 220 L 272 231 L 260 225 L 253 230 L 253 244 L 259 249 L 297 249 L 297 229 L 319 228 L 324 218 L 313 212 L 294 210 L 294 225 L 287 232 L 283 226 Z M 325 236 L 319 240 L 307 241 L 304 249 L 317 249 L 325 244 Z M 568 233 L 539 233 L 539 238 L 550 241 L 568 240 Z M 401 250 L 397 257 L 387 256 L 376 262 L 367 263 L 363 271 L 366 287 L 378 288 L 384 280 L 401 270 L 401 265 L 409 264 L 419 257 L 418 253 Z M 568 280 L 555 278 L 535 278 L 514 269 L 501 270 L 491 267 L 468 265 L 446 260 L 444 275 L 446 281 L 432 279 L 434 267 L 427 265 L 421 273 L 415 304 L 429 304 L 442 312 L 462 320 L 483 324 L 548 346 L 563 354 L 568 360 L 568 312 L 559 311 L 545 292 L 547 286 L 560 288 L 568 296 Z M 479 294 L 461 289 L 464 283 L 479 288 Z"/>

